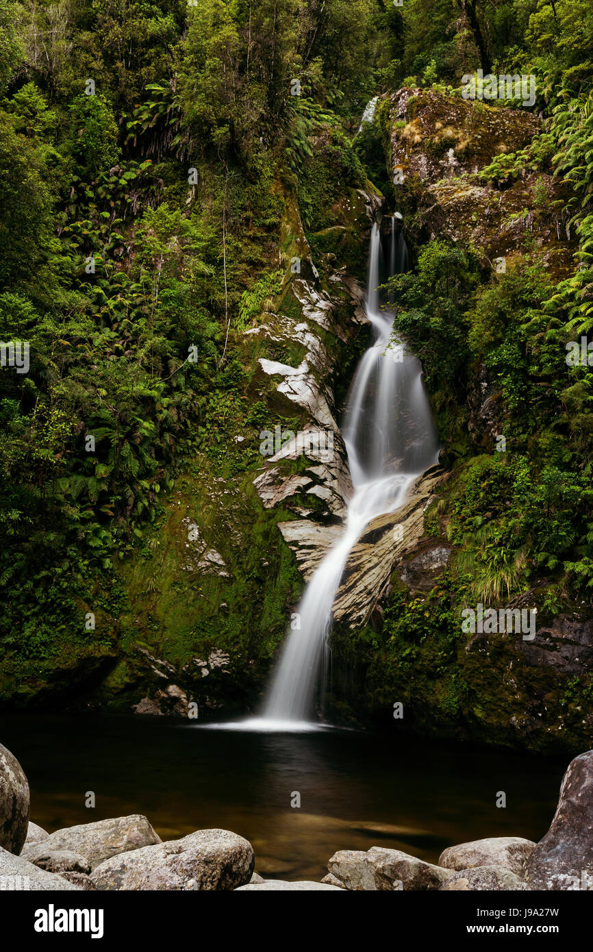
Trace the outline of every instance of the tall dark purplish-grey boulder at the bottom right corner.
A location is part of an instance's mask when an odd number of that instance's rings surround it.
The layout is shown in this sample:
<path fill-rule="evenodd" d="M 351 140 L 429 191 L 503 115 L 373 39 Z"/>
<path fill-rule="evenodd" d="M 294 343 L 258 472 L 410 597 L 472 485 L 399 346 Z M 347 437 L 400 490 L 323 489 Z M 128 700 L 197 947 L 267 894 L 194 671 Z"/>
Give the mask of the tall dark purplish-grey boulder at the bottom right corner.
<path fill-rule="evenodd" d="M 568 765 L 552 824 L 525 867 L 532 889 L 593 889 L 593 750 Z"/>

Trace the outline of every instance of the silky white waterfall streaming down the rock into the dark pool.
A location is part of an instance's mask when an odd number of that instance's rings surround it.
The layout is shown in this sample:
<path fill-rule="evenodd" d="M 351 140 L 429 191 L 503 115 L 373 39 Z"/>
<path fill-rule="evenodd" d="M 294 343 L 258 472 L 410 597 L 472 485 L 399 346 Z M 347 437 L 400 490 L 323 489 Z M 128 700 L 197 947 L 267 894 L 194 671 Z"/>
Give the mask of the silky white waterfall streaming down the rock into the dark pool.
<path fill-rule="evenodd" d="M 379 292 L 382 272 L 407 269 L 400 217 L 391 218 L 388 255 L 379 226 L 371 232 L 366 315 L 373 340 L 354 374 L 343 426 L 354 488 L 345 531 L 306 585 L 296 615 L 300 627 L 287 638 L 258 719 L 269 729 L 294 729 L 314 716 L 318 686 L 323 691 L 326 684 L 332 606 L 348 553 L 370 520 L 402 506 L 408 486 L 438 461 L 422 366 L 403 343 L 392 343 L 394 314 L 382 309 Z"/>

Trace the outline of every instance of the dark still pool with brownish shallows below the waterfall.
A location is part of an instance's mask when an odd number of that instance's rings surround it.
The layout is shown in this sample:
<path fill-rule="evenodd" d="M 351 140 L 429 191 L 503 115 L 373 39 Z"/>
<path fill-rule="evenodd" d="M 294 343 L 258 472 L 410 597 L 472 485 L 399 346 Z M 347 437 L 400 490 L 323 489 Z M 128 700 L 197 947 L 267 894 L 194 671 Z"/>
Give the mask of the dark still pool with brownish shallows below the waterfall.
<path fill-rule="evenodd" d="M 220 826 L 253 844 L 260 873 L 286 879 L 321 879 L 337 849 L 392 846 L 434 862 L 452 843 L 539 840 L 570 760 L 391 734 L 235 733 L 110 715 L 2 716 L 0 742 L 29 777 L 31 820 L 49 831 L 127 813 L 145 814 L 163 839 Z"/>

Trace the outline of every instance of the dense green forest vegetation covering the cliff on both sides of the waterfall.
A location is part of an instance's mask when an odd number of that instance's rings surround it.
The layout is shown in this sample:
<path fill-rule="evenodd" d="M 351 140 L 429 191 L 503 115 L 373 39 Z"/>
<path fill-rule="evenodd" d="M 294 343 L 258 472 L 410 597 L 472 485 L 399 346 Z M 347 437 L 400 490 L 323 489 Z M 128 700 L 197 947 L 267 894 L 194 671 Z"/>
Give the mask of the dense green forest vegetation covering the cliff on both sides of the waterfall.
<path fill-rule="evenodd" d="M 398 328 L 457 467 L 434 531 L 463 546 L 455 585 L 476 598 L 541 576 L 550 611 L 590 597 L 593 372 L 564 351 L 593 330 L 585 0 L 0 0 L 0 36 L 0 337 L 30 342 L 29 373 L 0 373 L 3 657 L 26 677 L 49 659 L 48 678 L 57 643 L 112 648 L 89 605 L 125 610 L 122 566 L 149 559 L 177 481 L 254 464 L 253 442 L 233 442 L 267 420 L 241 332 L 282 297 L 287 208 L 323 252 L 345 189 L 370 180 L 392 204 L 379 124 L 358 132 L 367 101 L 460 95 L 479 68 L 537 76 L 543 134 L 483 177 L 562 181 L 578 268 L 557 284 L 525 246 L 493 275 L 436 241 L 400 279 Z M 478 367 L 500 387 L 508 451 L 460 440 Z M 252 571 L 240 598 L 258 605 Z M 257 609 L 263 654 L 295 585 L 291 567 L 275 609 Z"/>

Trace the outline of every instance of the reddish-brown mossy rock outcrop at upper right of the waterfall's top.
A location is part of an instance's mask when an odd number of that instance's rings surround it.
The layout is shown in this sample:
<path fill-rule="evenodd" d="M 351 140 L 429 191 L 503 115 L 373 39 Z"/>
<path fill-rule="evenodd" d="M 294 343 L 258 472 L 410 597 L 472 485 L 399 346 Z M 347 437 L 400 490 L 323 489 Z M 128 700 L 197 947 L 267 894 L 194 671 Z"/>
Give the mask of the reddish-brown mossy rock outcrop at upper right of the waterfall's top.
<path fill-rule="evenodd" d="M 571 268 L 568 241 L 559 241 L 567 219 L 538 221 L 532 188 L 540 177 L 557 197 L 562 188 L 550 175 L 525 173 L 516 182 L 493 188 L 480 172 L 496 155 L 524 149 L 542 131 L 540 119 L 524 109 L 497 109 L 445 96 L 433 89 L 400 89 L 389 97 L 390 159 L 402 169 L 405 183 L 422 187 L 418 218 L 430 238 L 471 243 L 484 263 L 522 251 L 531 231 L 544 252 L 545 266 Z M 402 125 L 404 123 L 405 125 Z"/>

